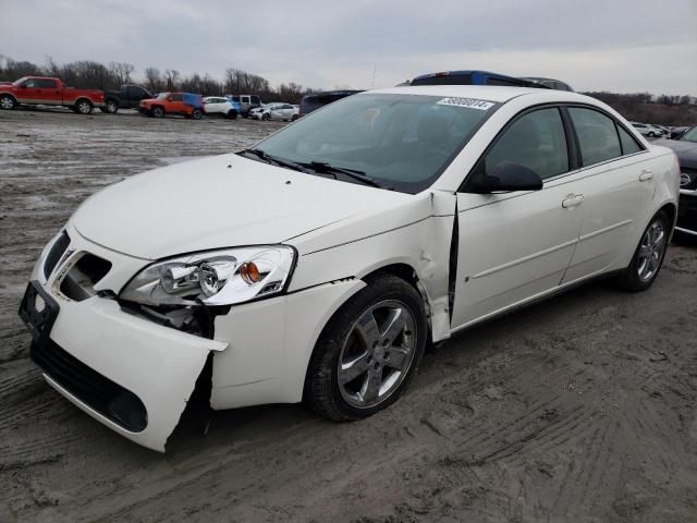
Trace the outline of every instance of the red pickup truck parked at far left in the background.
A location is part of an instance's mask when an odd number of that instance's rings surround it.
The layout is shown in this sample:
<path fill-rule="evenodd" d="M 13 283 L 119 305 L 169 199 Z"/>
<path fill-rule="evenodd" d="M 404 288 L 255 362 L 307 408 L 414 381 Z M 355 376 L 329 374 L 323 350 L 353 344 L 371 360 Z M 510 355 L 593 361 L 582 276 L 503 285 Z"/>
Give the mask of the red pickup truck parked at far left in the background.
<path fill-rule="evenodd" d="M 26 106 L 64 106 L 80 114 L 103 107 L 105 94 L 97 89 L 65 87 L 59 78 L 24 76 L 12 83 L 0 83 L 0 109 Z"/>

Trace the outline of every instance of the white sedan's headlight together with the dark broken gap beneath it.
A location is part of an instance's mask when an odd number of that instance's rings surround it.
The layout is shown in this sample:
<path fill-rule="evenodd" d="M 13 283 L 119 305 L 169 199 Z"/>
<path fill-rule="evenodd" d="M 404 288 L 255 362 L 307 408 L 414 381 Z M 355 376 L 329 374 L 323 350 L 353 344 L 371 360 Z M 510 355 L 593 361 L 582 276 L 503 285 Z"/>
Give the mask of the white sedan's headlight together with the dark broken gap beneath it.
<path fill-rule="evenodd" d="M 294 265 L 295 251 L 285 245 L 178 256 L 138 272 L 119 302 L 164 326 L 212 339 L 216 316 L 231 305 L 280 294 Z"/>

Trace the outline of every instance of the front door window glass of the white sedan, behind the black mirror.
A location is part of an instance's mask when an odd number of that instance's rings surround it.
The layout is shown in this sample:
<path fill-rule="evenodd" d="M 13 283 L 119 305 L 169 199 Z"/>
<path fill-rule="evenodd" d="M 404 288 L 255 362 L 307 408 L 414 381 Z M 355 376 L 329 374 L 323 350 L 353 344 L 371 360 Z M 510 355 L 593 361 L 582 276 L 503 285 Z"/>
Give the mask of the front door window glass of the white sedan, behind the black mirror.
<path fill-rule="evenodd" d="M 502 161 L 534 170 L 545 180 L 568 171 L 562 117 L 557 108 L 529 112 L 501 135 L 485 158 L 485 172 Z"/>

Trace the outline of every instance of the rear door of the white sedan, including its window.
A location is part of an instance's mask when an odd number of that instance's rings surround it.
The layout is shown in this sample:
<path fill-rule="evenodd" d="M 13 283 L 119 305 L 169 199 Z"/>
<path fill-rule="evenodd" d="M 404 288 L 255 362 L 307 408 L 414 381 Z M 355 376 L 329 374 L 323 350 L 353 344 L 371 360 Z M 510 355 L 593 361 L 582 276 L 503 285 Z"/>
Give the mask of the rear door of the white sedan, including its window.
<path fill-rule="evenodd" d="M 578 141 L 582 171 L 577 193 L 585 219 L 563 283 L 622 264 L 646 223 L 656 182 L 648 153 L 610 114 L 591 107 L 568 107 Z M 621 268 L 621 267 L 614 267 Z"/>

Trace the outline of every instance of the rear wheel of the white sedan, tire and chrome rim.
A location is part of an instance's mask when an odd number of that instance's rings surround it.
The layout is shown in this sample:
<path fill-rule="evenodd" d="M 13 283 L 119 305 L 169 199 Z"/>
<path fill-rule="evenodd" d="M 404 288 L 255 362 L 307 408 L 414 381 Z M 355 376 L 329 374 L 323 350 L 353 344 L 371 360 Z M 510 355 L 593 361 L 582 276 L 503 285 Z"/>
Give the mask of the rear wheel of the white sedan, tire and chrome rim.
<path fill-rule="evenodd" d="M 669 235 L 668 215 L 660 210 L 651 218 L 641 234 L 628 267 L 619 276 L 617 283 L 621 289 L 639 292 L 651 287 L 663 265 Z"/>

